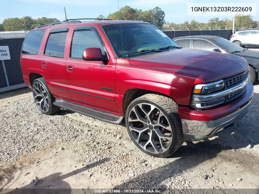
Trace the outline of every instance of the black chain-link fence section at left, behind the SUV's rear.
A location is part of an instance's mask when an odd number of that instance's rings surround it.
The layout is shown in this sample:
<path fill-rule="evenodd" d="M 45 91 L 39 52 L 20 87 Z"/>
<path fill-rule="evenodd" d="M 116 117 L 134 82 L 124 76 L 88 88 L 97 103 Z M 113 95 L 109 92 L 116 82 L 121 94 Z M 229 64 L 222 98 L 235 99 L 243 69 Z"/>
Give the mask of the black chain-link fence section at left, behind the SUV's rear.
<path fill-rule="evenodd" d="M 20 53 L 24 38 L 0 39 L 0 46 L 8 46 L 10 60 L 0 60 L 0 92 L 25 87 L 22 78 Z M 6 79 L 7 77 L 7 79 Z"/>

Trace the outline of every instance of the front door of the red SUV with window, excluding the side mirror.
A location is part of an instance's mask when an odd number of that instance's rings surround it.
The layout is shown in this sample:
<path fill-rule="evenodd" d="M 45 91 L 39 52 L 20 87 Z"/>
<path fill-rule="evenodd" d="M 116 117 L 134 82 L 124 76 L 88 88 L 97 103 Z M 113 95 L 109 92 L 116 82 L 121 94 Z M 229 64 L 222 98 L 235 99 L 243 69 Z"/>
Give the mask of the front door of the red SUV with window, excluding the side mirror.
<path fill-rule="evenodd" d="M 106 63 L 82 59 L 86 48 L 100 48 L 103 54 L 107 53 L 99 32 L 93 26 L 78 26 L 71 32 L 70 40 L 66 75 L 71 99 L 116 113 L 116 59 L 110 58 Z"/>

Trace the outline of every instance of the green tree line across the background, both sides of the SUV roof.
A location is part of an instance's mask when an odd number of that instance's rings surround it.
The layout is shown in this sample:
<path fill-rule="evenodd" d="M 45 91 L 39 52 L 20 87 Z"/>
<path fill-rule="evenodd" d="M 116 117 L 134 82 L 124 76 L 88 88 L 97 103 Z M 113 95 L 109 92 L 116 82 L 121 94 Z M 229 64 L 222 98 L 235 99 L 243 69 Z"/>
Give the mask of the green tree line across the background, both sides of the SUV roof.
<path fill-rule="evenodd" d="M 188 21 L 176 24 L 174 22 L 165 21 L 165 12 L 159 8 L 155 7 L 150 10 L 138 10 L 130 6 L 124 6 L 120 8 L 120 11 L 110 13 L 108 16 L 99 15 L 98 19 L 112 19 L 112 20 L 136 20 L 136 21 L 146 21 L 149 22 L 159 29 L 162 30 L 206 30 L 206 29 L 232 29 L 233 21 L 228 18 L 223 18 L 219 20 L 219 17 L 210 19 L 207 23 L 199 23 L 196 20 L 192 20 L 190 23 Z M 30 16 L 25 18 L 7 18 L 0 24 L 0 31 L 21 31 L 32 30 L 39 24 L 59 22 L 56 18 L 41 17 L 33 19 Z M 24 25 L 25 23 L 25 25 Z M 187 28 L 186 28 L 187 27 Z M 240 28 L 259 28 L 259 21 L 254 21 L 253 17 L 248 16 L 235 16 L 235 29 Z"/>

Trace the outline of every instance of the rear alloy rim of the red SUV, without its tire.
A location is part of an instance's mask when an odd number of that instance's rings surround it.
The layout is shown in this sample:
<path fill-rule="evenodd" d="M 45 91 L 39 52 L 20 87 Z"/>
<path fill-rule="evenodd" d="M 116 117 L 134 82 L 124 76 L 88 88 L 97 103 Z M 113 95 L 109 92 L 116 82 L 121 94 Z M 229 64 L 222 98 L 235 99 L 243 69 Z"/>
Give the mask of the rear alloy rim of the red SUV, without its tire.
<path fill-rule="evenodd" d="M 48 112 L 49 97 L 45 87 L 40 82 L 35 82 L 32 87 L 34 100 L 41 112 Z"/>

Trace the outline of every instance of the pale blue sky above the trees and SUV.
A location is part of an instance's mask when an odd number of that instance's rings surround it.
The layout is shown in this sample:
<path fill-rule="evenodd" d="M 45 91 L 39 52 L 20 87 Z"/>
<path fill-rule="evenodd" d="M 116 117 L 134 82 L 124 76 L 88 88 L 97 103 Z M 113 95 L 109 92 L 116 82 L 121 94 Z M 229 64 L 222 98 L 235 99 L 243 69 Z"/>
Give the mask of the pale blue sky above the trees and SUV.
<path fill-rule="evenodd" d="M 259 20 L 259 1 L 247 0 L 246 3 L 257 3 Z M 208 22 L 214 16 L 187 16 L 187 3 L 244 3 L 244 0 L 119 0 L 119 7 L 131 6 L 141 10 L 149 10 L 156 6 L 166 14 L 165 20 L 174 23 L 183 23 L 195 19 L 198 22 Z M 118 11 L 118 0 L 0 0 L 0 23 L 8 17 L 31 16 L 55 17 L 60 21 L 65 19 L 64 6 L 67 18 L 96 18 L 102 14 Z M 217 16 L 215 16 L 217 17 Z M 222 19 L 224 16 L 220 16 Z M 231 16 L 225 16 L 232 19 Z"/>

